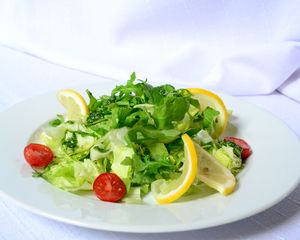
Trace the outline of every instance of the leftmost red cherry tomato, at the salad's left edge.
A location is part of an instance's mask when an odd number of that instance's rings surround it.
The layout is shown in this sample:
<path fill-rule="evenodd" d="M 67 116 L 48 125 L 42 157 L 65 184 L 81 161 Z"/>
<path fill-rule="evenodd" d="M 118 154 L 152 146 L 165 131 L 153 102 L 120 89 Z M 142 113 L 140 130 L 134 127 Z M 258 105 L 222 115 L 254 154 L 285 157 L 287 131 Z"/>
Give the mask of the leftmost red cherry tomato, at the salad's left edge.
<path fill-rule="evenodd" d="M 24 157 L 32 167 L 46 167 L 54 155 L 50 148 L 38 143 L 30 143 L 24 148 Z"/>

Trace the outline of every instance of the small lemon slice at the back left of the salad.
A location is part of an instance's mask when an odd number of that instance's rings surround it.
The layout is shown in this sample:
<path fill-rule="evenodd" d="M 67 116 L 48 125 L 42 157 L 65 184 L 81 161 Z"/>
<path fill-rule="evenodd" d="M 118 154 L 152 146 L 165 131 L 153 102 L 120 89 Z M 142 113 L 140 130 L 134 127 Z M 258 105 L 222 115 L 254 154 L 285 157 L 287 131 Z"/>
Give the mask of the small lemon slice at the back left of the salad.
<path fill-rule="evenodd" d="M 71 89 L 64 89 L 58 92 L 57 98 L 67 110 L 67 120 L 79 120 L 88 115 L 87 103 L 80 93 Z"/>

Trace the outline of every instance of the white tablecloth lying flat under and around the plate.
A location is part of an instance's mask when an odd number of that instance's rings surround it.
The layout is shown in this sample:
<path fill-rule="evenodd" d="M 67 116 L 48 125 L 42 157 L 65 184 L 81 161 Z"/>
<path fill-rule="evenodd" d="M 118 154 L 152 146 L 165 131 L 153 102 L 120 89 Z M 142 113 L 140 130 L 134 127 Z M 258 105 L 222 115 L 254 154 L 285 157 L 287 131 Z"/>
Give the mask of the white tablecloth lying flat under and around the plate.
<path fill-rule="evenodd" d="M 127 79 L 127 75 L 124 79 Z M 43 92 L 101 80 L 102 78 L 96 75 L 60 67 L 0 47 L 0 111 L 5 111 L 17 102 Z M 279 92 L 240 98 L 272 112 L 300 137 L 300 103 Z M 299 238 L 300 185 L 279 204 L 250 218 L 204 230 L 169 234 L 129 234 L 84 229 L 37 216 L 14 205 L 6 198 L 0 199 L 1 240 Z"/>

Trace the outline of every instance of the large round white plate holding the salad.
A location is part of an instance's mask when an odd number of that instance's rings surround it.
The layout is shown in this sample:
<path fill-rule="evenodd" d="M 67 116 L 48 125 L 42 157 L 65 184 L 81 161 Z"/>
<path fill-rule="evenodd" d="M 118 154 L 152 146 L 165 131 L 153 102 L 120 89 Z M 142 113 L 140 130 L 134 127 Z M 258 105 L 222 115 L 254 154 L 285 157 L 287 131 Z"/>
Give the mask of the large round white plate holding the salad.
<path fill-rule="evenodd" d="M 112 83 L 90 88 L 108 94 Z M 96 91 L 97 89 L 97 91 Z M 83 88 L 81 92 L 84 93 Z M 15 105 L 0 115 L 0 192 L 36 214 L 82 227 L 122 232 L 173 232 L 237 221 L 276 204 L 299 182 L 297 137 L 269 113 L 221 95 L 233 109 L 229 132 L 246 139 L 252 156 L 239 175 L 236 191 L 168 205 L 101 202 L 57 189 L 40 178 L 23 159 L 32 133 L 63 109 L 55 93 Z"/>

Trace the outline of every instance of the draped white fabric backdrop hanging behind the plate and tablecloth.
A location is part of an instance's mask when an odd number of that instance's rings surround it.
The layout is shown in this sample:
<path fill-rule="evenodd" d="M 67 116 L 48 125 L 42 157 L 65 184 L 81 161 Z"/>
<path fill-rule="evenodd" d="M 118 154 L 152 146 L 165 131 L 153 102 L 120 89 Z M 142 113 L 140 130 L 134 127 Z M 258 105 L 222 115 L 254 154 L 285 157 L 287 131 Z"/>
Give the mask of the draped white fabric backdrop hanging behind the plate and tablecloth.
<path fill-rule="evenodd" d="M 299 1 L 0 2 L 0 44 L 125 81 L 300 102 Z"/>

